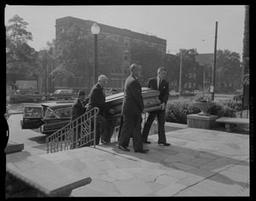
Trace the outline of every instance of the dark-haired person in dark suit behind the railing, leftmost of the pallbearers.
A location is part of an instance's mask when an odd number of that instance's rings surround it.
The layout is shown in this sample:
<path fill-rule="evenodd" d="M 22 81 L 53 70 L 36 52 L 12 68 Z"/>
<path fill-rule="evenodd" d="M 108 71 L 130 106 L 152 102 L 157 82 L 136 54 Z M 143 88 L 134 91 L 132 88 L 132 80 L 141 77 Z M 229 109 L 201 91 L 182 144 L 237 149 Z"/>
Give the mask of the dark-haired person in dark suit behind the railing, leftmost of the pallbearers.
<path fill-rule="evenodd" d="M 71 117 L 72 121 L 79 118 L 80 116 L 82 116 L 84 114 L 84 112 L 86 112 L 86 109 L 83 104 L 85 92 L 80 90 L 78 95 L 79 95 L 79 98 L 74 100 L 73 106 L 72 106 L 72 117 Z M 78 141 L 78 139 L 80 138 L 81 125 L 79 125 L 77 127 L 77 124 L 79 124 L 79 123 L 81 123 L 81 119 L 73 122 L 73 142 Z M 75 148 L 76 143 L 73 143 L 73 146 L 74 146 L 73 148 Z"/>

